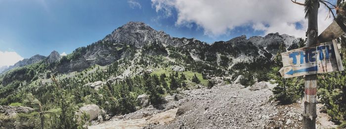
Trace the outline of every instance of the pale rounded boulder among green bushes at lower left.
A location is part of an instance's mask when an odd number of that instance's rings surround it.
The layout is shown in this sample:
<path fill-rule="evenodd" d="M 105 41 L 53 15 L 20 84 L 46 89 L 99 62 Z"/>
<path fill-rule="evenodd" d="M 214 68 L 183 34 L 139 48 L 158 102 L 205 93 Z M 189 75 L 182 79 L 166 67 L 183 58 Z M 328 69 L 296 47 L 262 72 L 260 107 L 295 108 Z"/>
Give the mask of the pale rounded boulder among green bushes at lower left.
<path fill-rule="evenodd" d="M 95 104 L 84 105 L 83 107 L 79 108 L 79 110 L 75 113 L 75 115 L 78 117 L 78 122 L 81 121 L 81 116 L 83 115 L 83 112 L 89 115 L 90 118 L 88 121 L 91 121 L 97 118 L 97 116 L 101 112 L 101 109 Z"/>

